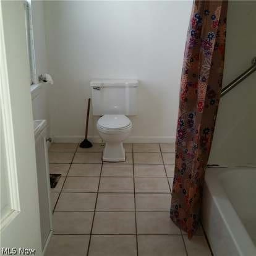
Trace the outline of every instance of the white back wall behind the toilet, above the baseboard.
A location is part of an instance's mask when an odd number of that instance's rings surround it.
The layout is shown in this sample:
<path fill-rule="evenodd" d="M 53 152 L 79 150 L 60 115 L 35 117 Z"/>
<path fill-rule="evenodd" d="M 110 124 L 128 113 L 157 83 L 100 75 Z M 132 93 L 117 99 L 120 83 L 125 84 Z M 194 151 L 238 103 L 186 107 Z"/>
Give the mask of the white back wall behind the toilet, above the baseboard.
<path fill-rule="evenodd" d="M 191 6 L 191 1 L 46 1 L 54 139 L 83 137 L 89 81 L 100 77 L 140 80 L 130 140 L 173 141 Z M 91 137 L 98 135 L 92 123 Z"/>

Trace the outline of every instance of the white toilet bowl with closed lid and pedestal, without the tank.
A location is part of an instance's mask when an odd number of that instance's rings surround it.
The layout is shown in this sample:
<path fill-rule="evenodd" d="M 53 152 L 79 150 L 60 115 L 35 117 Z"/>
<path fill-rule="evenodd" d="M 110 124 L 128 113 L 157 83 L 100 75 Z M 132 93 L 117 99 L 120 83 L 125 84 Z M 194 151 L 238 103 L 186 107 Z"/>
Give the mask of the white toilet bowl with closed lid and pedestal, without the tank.
<path fill-rule="evenodd" d="M 132 122 L 124 114 L 105 114 L 97 122 L 98 133 L 106 143 L 103 161 L 126 161 L 123 142 L 129 137 Z"/>

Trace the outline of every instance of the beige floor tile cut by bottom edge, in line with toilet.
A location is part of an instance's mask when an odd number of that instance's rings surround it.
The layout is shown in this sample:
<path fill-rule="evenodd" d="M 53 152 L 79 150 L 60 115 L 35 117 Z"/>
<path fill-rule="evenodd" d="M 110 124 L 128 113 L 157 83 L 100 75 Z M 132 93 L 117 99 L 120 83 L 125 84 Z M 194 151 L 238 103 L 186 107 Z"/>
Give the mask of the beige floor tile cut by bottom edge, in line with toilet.
<path fill-rule="evenodd" d="M 136 236 L 93 235 L 90 256 L 136 256 Z"/>

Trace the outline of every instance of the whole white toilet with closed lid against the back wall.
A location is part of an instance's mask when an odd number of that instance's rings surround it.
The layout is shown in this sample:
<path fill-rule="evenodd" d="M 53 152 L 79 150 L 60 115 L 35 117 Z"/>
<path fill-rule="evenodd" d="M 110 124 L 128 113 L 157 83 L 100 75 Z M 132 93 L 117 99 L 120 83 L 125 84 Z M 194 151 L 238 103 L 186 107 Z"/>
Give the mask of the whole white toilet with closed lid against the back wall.
<path fill-rule="evenodd" d="M 126 161 L 123 142 L 132 130 L 132 121 L 127 116 L 137 114 L 138 80 L 134 79 L 93 79 L 93 116 L 101 116 L 97 129 L 105 142 L 103 161 Z"/>

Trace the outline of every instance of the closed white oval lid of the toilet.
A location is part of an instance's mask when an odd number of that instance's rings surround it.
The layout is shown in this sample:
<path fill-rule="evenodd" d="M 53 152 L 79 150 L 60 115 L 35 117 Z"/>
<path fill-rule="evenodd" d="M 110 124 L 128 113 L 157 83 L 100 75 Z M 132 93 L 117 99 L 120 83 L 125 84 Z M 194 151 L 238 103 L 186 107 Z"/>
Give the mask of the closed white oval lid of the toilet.
<path fill-rule="evenodd" d="M 98 125 L 106 129 L 120 129 L 129 126 L 130 119 L 123 114 L 105 114 L 98 119 Z"/>

